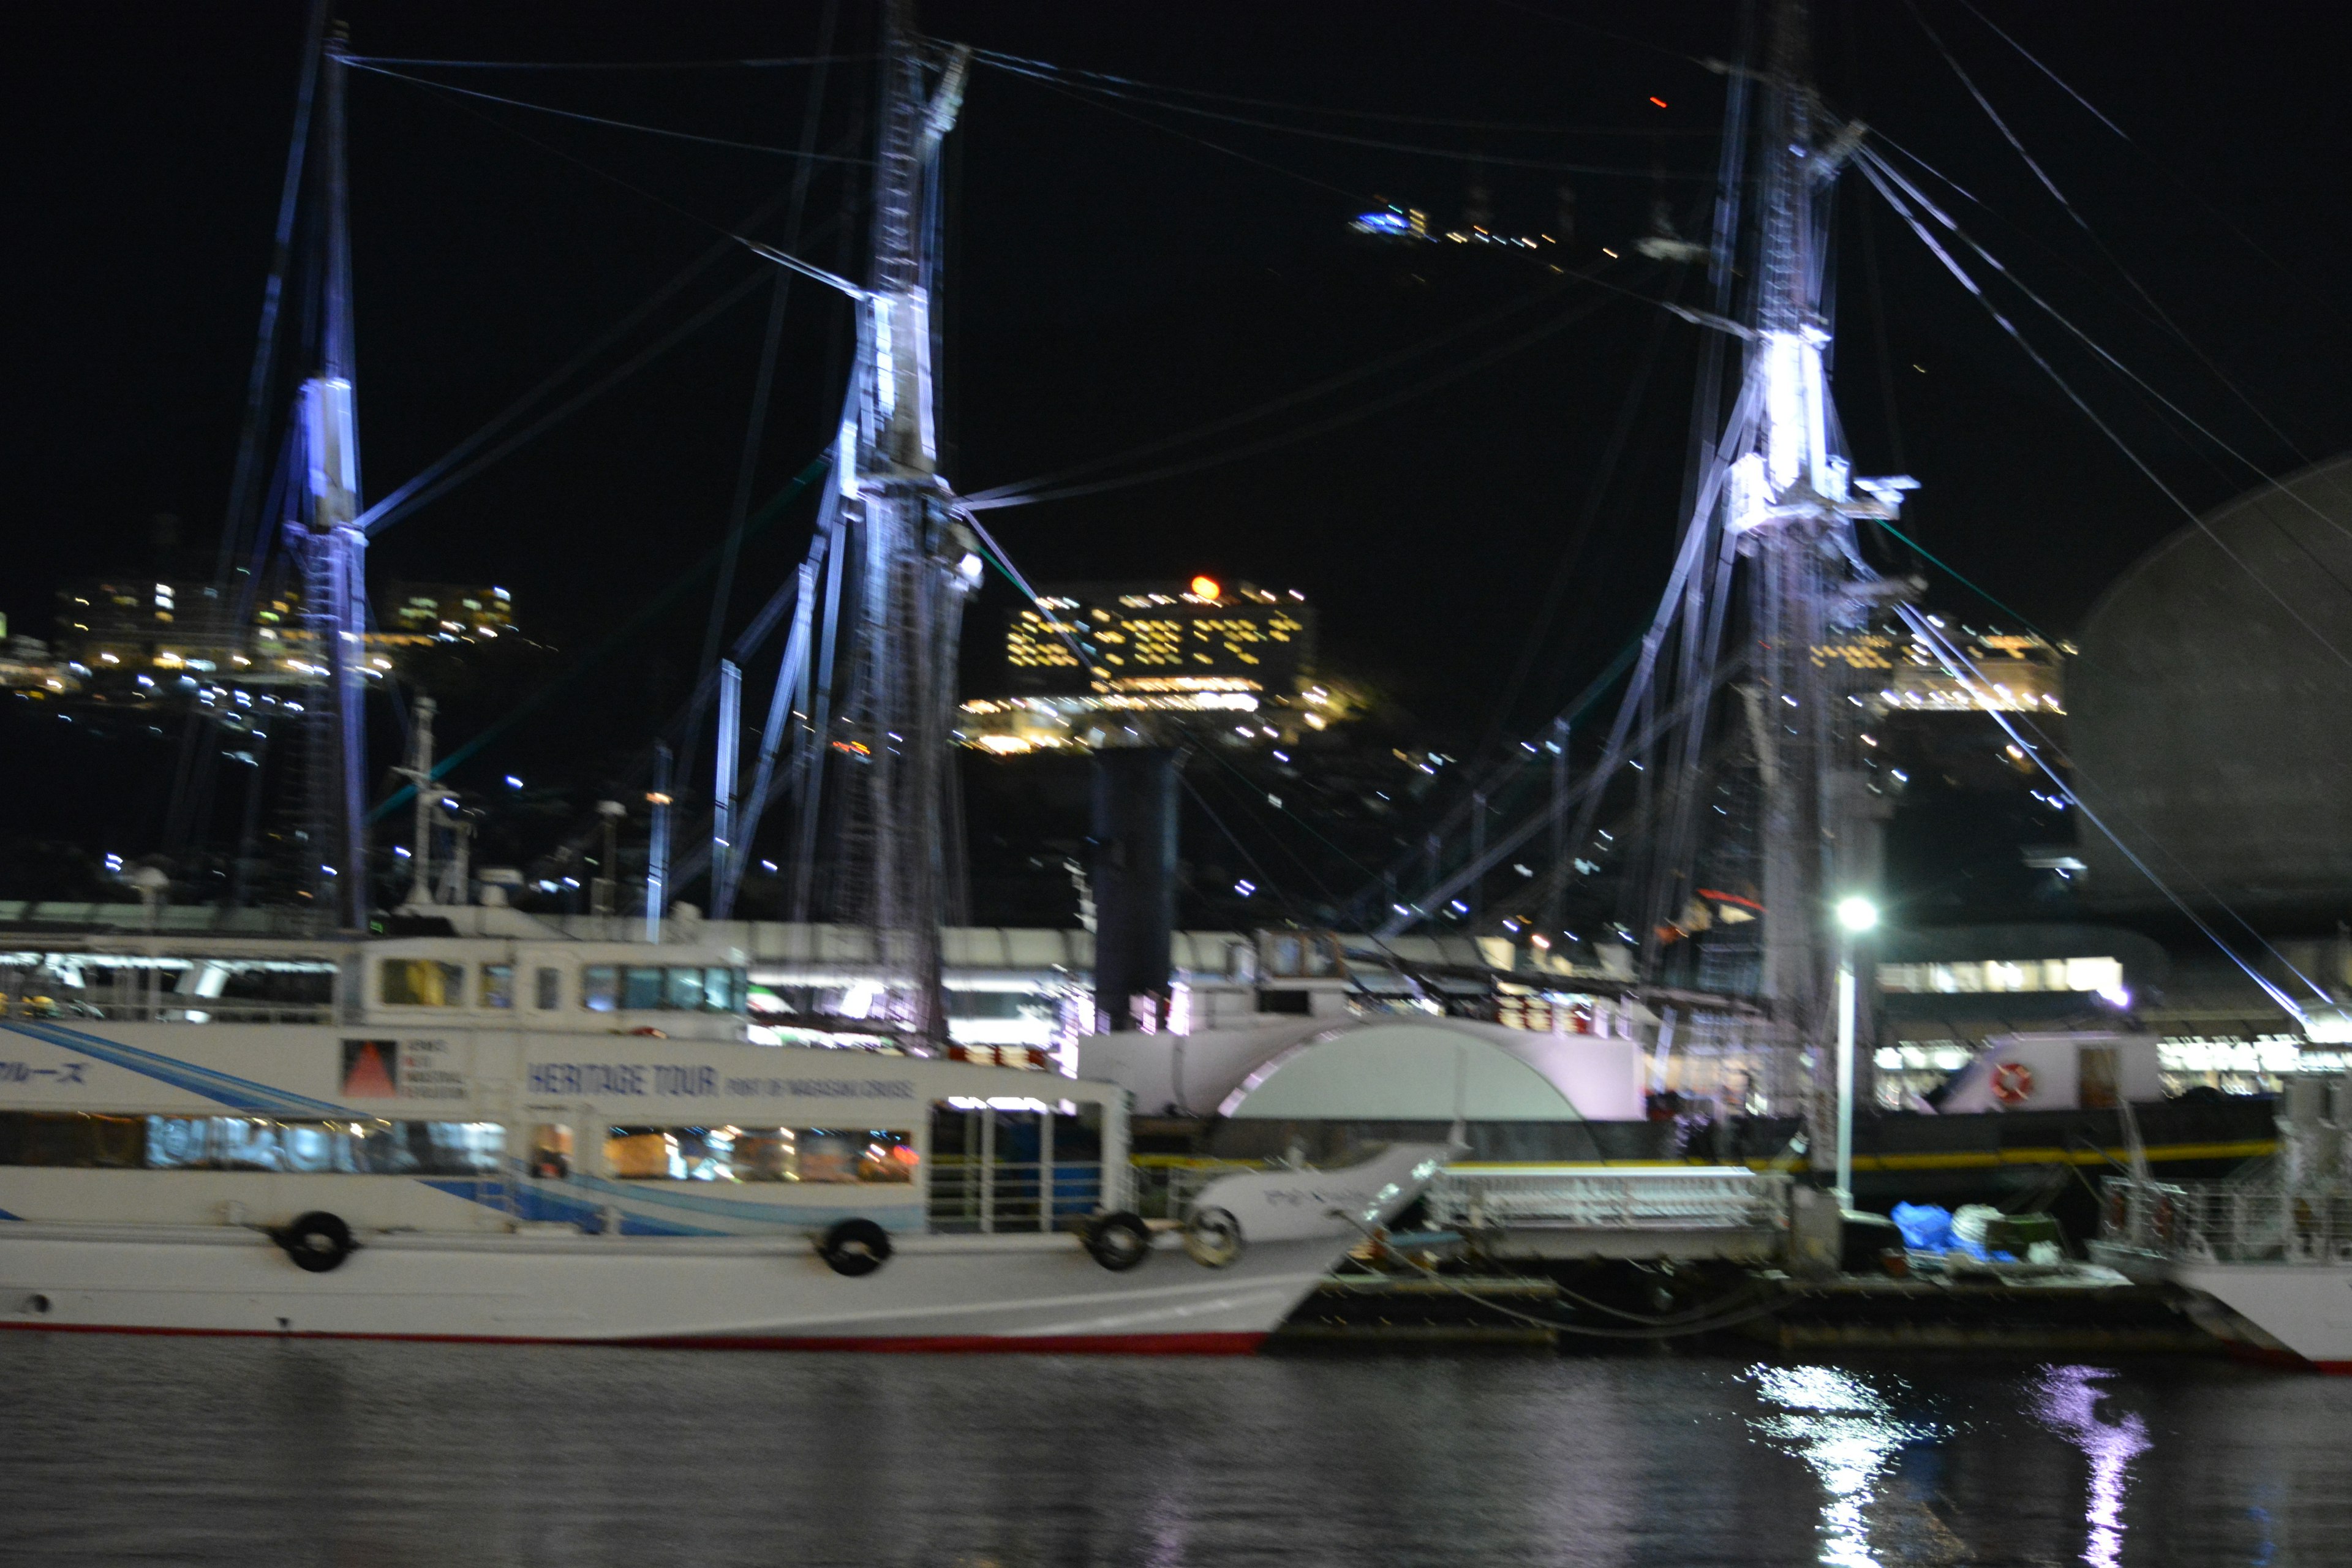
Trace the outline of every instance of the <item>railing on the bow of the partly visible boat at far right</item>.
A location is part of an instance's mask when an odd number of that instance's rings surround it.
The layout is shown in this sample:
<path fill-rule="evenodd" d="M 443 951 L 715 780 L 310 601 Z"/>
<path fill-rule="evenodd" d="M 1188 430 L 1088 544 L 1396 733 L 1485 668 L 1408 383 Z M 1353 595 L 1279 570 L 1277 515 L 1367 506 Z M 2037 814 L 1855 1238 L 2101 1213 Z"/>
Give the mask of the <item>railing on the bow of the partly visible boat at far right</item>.
<path fill-rule="evenodd" d="M 2192 1262 L 2352 1262 L 2352 1190 L 2107 1178 L 2100 1241 Z"/>

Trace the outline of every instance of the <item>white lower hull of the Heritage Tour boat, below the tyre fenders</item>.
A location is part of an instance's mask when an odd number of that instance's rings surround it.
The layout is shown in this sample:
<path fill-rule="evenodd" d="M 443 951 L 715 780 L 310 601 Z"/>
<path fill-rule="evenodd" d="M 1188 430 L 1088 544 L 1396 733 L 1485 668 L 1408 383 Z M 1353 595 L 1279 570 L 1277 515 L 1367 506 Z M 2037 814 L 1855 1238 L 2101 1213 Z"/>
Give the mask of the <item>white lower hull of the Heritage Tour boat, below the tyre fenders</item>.
<path fill-rule="evenodd" d="M 0 1227 L 0 1326 L 769 1349 L 1247 1352 L 1348 1248 L 1164 1244 L 1103 1269 L 1068 1234 L 906 1237 L 842 1276 L 807 1241 L 390 1234 L 306 1274 L 235 1227 Z"/>

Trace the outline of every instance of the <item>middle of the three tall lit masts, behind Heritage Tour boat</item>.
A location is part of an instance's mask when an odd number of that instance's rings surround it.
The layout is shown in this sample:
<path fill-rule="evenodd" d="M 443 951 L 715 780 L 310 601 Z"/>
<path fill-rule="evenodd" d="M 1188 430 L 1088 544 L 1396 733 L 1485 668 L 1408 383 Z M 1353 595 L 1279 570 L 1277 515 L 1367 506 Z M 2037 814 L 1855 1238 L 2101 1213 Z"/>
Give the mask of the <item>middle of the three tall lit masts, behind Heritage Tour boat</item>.
<path fill-rule="evenodd" d="M 800 790 L 795 882 L 809 891 L 797 912 L 861 926 L 882 987 L 875 1016 L 934 1046 L 948 1039 L 941 924 L 960 886 L 955 654 L 981 569 L 938 475 L 934 416 L 938 153 L 967 71 L 967 49 L 917 38 L 910 2 L 889 0 L 858 360 L 781 675 L 809 691 L 786 773 Z M 823 625 L 802 635 L 818 597 Z"/>

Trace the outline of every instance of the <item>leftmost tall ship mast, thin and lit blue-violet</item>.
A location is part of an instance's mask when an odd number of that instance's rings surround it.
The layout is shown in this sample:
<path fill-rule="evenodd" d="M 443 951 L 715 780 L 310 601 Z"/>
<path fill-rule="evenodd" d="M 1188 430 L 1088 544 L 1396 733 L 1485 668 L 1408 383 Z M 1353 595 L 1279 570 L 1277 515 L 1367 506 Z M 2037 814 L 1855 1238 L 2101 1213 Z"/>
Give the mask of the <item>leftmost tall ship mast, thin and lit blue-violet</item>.
<path fill-rule="evenodd" d="M 308 484 L 292 524 L 303 574 L 303 621 L 310 661 L 325 677 L 313 698 L 308 875 L 313 907 L 332 910 L 343 929 L 367 924 L 367 534 L 360 517 L 360 428 L 353 402 L 350 329 L 350 190 L 346 181 L 343 101 L 350 82 L 341 33 L 325 45 L 325 158 L 320 179 L 320 336 L 318 369 L 301 386 L 301 442 Z"/>

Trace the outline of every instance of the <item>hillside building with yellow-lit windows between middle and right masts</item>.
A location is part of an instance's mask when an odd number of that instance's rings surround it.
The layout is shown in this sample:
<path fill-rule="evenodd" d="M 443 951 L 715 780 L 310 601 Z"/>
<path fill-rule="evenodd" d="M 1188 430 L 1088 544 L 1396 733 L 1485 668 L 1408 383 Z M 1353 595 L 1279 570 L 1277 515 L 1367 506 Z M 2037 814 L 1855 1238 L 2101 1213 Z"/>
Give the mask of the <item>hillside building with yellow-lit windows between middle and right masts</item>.
<path fill-rule="evenodd" d="M 1315 611 L 1303 592 L 1207 576 L 1044 592 L 1007 621 L 1002 684 L 1002 696 L 962 705 L 964 745 L 1098 750 L 1171 726 L 1263 745 L 1362 705 L 1315 679 Z"/>

